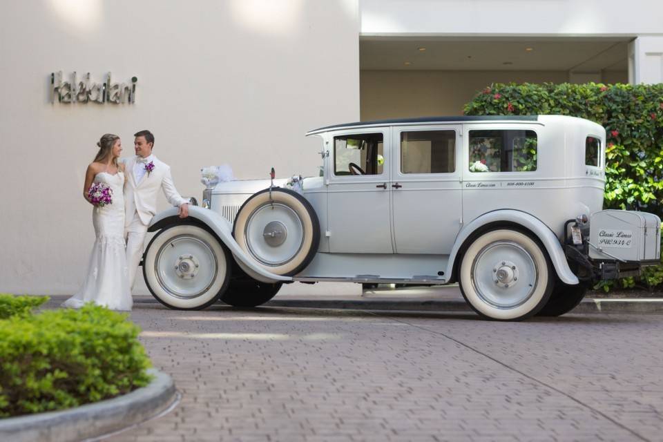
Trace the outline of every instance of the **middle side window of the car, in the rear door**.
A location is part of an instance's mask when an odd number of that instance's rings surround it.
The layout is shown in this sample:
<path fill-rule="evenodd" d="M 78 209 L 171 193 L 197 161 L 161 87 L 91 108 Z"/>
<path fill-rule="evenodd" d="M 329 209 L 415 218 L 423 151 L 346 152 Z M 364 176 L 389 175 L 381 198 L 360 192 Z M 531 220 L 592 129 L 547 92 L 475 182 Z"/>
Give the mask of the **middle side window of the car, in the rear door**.
<path fill-rule="evenodd" d="M 401 173 L 456 170 L 456 131 L 401 132 Z"/>

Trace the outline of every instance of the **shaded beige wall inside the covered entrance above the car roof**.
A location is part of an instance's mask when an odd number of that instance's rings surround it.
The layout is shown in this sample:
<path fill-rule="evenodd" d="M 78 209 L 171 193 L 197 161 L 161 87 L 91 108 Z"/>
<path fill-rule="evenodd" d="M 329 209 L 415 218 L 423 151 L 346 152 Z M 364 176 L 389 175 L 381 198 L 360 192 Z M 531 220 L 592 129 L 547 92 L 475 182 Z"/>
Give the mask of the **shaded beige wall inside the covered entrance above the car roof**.
<path fill-rule="evenodd" d="M 625 73 L 611 80 L 626 81 Z M 461 115 L 463 105 L 492 83 L 568 81 L 566 71 L 362 70 L 361 119 Z"/>

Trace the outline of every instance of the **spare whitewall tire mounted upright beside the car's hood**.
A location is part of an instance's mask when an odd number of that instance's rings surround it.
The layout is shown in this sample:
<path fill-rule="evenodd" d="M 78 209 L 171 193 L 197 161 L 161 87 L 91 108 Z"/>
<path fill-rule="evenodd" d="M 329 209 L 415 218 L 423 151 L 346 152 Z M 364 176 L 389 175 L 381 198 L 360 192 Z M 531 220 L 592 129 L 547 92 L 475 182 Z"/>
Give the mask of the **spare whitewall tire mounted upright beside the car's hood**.
<path fill-rule="evenodd" d="M 233 237 L 247 256 L 271 273 L 293 276 L 313 260 L 320 222 L 302 195 L 276 187 L 255 193 L 235 218 Z"/>

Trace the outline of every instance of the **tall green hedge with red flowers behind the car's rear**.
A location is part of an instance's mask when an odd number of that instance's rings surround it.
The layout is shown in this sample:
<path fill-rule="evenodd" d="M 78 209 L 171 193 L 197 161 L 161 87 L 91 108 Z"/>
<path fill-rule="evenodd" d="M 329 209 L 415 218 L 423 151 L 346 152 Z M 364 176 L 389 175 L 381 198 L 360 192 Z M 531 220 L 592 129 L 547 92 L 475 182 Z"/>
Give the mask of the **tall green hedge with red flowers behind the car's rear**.
<path fill-rule="evenodd" d="M 663 84 L 493 84 L 465 104 L 465 115 L 572 115 L 606 128 L 606 209 L 663 218 Z M 663 267 L 645 269 L 648 288 Z M 620 280 L 633 287 L 633 278 Z M 604 282 L 608 291 L 613 282 Z"/>

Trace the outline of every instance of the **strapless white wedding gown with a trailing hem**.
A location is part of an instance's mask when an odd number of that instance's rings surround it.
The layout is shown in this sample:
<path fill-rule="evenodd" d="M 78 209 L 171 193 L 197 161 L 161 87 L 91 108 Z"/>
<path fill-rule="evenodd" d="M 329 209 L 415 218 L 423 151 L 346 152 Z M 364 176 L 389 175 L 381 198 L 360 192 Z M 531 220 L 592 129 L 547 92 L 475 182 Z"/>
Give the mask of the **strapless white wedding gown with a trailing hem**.
<path fill-rule="evenodd" d="M 86 302 L 94 302 L 113 310 L 131 310 L 133 299 L 124 244 L 124 173 L 97 173 L 95 182 L 111 186 L 113 204 L 93 209 L 97 240 L 90 255 L 88 274 L 83 287 L 62 306 L 77 309 Z"/>

